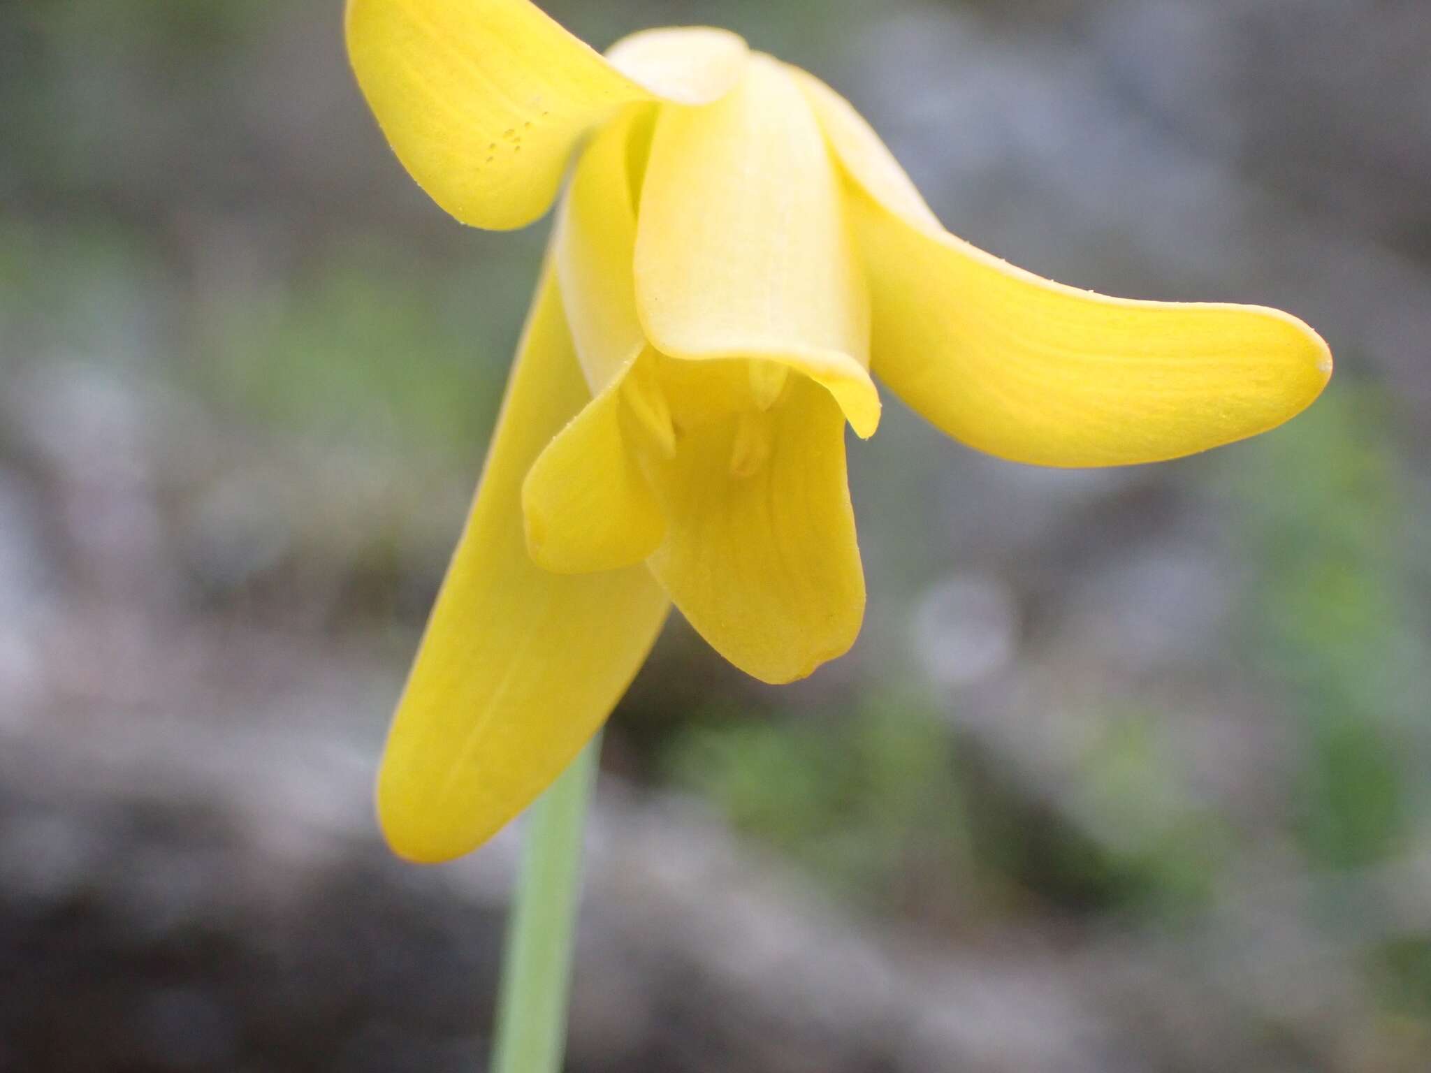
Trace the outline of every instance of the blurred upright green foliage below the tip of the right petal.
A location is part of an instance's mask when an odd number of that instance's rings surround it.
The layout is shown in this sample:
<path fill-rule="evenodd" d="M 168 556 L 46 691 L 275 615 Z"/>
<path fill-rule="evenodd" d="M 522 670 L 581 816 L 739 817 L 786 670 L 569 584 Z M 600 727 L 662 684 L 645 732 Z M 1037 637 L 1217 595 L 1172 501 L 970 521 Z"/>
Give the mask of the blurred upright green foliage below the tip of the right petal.
<path fill-rule="evenodd" d="M 1384 401 L 1344 378 L 1248 456 L 1251 648 L 1294 700 L 1296 836 L 1324 866 L 1384 860 L 1408 831 L 1404 757 L 1431 665 Z"/>

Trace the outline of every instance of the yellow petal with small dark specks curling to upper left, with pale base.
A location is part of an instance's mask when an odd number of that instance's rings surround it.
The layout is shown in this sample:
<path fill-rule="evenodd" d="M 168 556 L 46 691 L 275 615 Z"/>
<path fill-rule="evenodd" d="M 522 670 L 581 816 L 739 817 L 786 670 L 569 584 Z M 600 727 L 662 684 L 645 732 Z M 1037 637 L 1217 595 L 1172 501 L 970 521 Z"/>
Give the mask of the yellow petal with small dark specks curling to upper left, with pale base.
<path fill-rule="evenodd" d="M 353 73 L 398 159 L 456 219 L 495 229 L 541 216 L 577 139 L 622 104 L 721 96 L 744 43 L 713 33 L 665 43 L 684 66 L 624 74 L 527 0 L 348 0 L 346 14 Z"/>

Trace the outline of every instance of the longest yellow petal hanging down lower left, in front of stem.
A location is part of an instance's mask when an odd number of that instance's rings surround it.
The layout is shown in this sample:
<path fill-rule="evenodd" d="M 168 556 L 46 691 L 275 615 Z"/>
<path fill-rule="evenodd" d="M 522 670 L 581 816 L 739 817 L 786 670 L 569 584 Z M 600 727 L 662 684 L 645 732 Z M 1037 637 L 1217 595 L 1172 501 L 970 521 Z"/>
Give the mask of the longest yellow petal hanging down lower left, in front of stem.
<path fill-rule="evenodd" d="M 461 856 L 517 815 L 607 718 L 665 618 L 645 567 L 572 577 L 527 555 L 522 478 L 588 398 L 548 269 L 378 774 L 402 857 Z"/>

